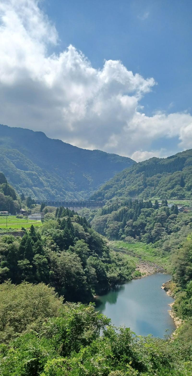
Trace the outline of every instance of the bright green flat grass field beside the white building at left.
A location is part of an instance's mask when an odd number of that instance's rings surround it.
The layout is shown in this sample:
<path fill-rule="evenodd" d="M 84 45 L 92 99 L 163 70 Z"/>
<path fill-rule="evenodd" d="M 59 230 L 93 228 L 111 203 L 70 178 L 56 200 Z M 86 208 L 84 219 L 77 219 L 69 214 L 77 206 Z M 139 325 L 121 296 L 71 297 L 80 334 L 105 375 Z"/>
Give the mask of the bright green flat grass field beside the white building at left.
<path fill-rule="evenodd" d="M 36 220 L 30 220 L 27 222 L 26 219 L 23 218 L 16 218 L 16 215 L 7 215 L 6 216 L 0 216 L 0 229 L 21 229 L 21 227 L 31 227 L 31 224 L 33 226 L 41 226 L 41 221 L 36 221 Z"/>

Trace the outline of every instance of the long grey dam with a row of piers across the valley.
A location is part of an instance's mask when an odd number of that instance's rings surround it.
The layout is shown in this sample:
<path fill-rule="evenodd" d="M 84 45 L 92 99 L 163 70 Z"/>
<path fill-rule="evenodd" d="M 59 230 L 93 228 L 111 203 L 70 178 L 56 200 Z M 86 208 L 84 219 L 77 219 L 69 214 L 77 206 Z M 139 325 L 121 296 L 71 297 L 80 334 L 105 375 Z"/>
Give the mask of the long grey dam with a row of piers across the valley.
<path fill-rule="evenodd" d="M 89 209 L 98 209 L 102 208 L 105 205 L 105 201 L 95 201 L 95 200 L 86 200 L 86 201 L 57 201 L 57 200 L 36 200 L 36 204 L 41 204 L 42 202 L 45 203 L 46 206 L 55 206 L 58 208 L 59 206 L 63 206 L 64 208 L 68 208 L 70 210 L 78 211 L 83 208 Z"/>

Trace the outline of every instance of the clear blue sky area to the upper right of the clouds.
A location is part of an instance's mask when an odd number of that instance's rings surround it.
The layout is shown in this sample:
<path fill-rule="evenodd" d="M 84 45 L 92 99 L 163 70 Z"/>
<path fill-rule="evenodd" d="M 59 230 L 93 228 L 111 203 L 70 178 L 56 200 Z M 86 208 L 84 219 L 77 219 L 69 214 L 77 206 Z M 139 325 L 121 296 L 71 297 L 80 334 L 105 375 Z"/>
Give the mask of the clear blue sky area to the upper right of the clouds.
<path fill-rule="evenodd" d="M 192 111 L 190 0 L 48 0 L 43 8 L 57 27 L 58 50 L 72 44 L 95 68 L 121 60 L 154 77 L 158 86 L 142 100 L 145 114 Z"/>

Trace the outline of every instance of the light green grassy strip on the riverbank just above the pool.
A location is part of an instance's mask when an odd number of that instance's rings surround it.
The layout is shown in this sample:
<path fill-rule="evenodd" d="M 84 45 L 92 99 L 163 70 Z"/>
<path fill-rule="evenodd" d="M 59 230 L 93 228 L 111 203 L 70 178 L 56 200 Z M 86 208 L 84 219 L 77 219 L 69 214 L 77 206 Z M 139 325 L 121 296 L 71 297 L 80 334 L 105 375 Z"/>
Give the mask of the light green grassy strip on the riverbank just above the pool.
<path fill-rule="evenodd" d="M 133 253 L 133 255 L 139 256 L 144 261 L 155 262 L 166 270 L 170 268 L 169 255 L 167 256 L 165 253 L 159 252 L 157 248 L 152 248 L 148 244 L 141 242 L 130 244 L 124 241 L 114 240 L 109 241 L 109 246 L 126 250 L 127 252 Z"/>

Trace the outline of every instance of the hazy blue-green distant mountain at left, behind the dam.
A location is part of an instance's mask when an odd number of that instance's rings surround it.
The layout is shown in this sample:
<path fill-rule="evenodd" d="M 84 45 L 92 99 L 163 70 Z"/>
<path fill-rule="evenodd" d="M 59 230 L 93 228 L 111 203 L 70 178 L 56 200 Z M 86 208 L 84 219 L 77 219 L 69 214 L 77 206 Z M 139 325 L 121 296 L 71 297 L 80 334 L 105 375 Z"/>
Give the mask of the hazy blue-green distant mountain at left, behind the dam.
<path fill-rule="evenodd" d="M 88 198 L 135 163 L 116 154 L 80 149 L 42 132 L 0 125 L 0 170 L 18 193 L 36 199 Z"/>

